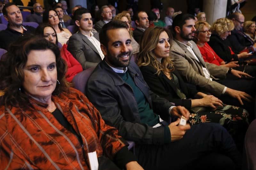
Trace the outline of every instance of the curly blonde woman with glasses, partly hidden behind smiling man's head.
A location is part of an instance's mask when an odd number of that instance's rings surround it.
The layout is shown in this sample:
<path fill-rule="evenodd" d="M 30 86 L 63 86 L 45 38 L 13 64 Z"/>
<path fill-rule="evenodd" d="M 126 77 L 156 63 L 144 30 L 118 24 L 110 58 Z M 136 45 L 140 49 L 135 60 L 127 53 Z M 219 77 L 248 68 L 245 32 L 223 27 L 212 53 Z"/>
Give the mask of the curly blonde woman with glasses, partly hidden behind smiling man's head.
<path fill-rule="evenodd" d="M 132 35 L 132 27 L 131 27 L 131 17 L 129 15 L 126 15 L 126 13 L 119 13 L 115 16 L 115 18 L 113 20 L 119 20 L 119 21 L 123 21 L 127 24 L 128 26 L 128 31 L 130 33 L 130 37 L 131 37 L 131 40 L 132 40 L 132 54 L 136 54 L 139 52 L 139 44 L 138 42 L 136 42 L 133 38 L 133 35 Z"/>

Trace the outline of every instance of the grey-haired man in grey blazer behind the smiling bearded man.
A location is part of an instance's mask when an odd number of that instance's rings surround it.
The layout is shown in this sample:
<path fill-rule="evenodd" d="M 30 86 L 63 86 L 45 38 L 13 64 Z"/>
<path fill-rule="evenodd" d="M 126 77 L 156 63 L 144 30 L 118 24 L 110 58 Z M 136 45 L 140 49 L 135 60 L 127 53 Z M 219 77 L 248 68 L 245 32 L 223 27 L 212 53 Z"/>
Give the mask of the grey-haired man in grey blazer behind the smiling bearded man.
<path fill-rule="evenodd" d="M 101 20 L 98 21 L 95 26 L 94 29 L 96 29 L 96 31 L 99 33 L 102 26 L 104 26 L 105 24 L 107 24 L 109 21 L 111 21 L 112 19 L 112 11 L 111 9 L 108 7 L 108 5 L 104 5 L 100 8 L 100 17 Z"/>

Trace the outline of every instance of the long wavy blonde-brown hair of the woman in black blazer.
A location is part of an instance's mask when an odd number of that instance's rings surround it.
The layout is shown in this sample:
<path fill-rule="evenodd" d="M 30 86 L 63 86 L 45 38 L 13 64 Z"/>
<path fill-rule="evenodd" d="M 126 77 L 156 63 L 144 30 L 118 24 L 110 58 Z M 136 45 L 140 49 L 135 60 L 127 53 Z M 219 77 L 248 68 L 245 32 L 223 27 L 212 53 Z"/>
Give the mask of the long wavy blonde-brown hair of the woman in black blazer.
<path fill-rule="evenodd" d="M 152 65 L 159 75 L 161 71 L 164 73 L 171 73 L 174 70 L 171 57 L 162 58 L 161 63 L 157 61 L 154 54 L 154 49 L 158 44 L 159 36 L 162 32 L 166 32 L 169 36 L 169 43 L 172 46 L 172 34 L 166 28 L 163 27 L 150 27 L 143 33 L 140 41 L 140 52 L 138 55 L 138 66 Z"/>

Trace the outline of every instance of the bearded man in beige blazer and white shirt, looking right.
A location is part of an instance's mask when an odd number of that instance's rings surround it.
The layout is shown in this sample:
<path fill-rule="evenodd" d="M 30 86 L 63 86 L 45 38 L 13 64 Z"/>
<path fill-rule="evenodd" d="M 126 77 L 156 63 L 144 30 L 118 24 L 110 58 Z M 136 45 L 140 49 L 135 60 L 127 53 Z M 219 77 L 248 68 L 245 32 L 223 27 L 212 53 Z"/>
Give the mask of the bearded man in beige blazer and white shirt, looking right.
<path fill-rule="evenodd" d="M 174 41 L 170 56 L 175 69 L 188 83 L 195 84 L 200 89 L 220 97 L 221 100 L 224 100 L 223 102 L 232 102 L 230 104 L 245 107 L 245 102 L 253 100 L 251 95 L 255 96 L 255 90 L 253 90 L 255 79 L 239 79 L 241 76 L 250 77 L 250 75 L 227 67 L 205 63 L 200 50 L 191 41 L 196 31 L 194 26 L 195 18 L 190 14 L 179 14 L 173 19 Z M 227 79 L 226 75 L 229 73 L 238 78 Z M 239 102 L 234 101 L 234 98 Z M 253 105 L 251 103 L 247 106 Z M 252 108 L 247 109 L 253 110 Z"/>

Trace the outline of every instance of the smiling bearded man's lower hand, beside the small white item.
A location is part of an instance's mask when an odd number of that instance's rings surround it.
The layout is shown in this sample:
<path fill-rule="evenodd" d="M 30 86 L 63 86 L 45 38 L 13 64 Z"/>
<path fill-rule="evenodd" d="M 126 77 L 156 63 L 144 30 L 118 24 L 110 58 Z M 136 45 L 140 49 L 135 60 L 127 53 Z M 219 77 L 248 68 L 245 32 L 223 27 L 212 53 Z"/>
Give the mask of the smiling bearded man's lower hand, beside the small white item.
<path fill-rule="evenodd" d="M 171 132 L 171 141 L 180 140 L 186 133 L 188 129 L 190 129 L 190 125 L 186 124 L 185 126 L 177 126 L 180 123 L 180 118 L 178 118 L 175 122 L 172 122 L 168 125 Z"/>

